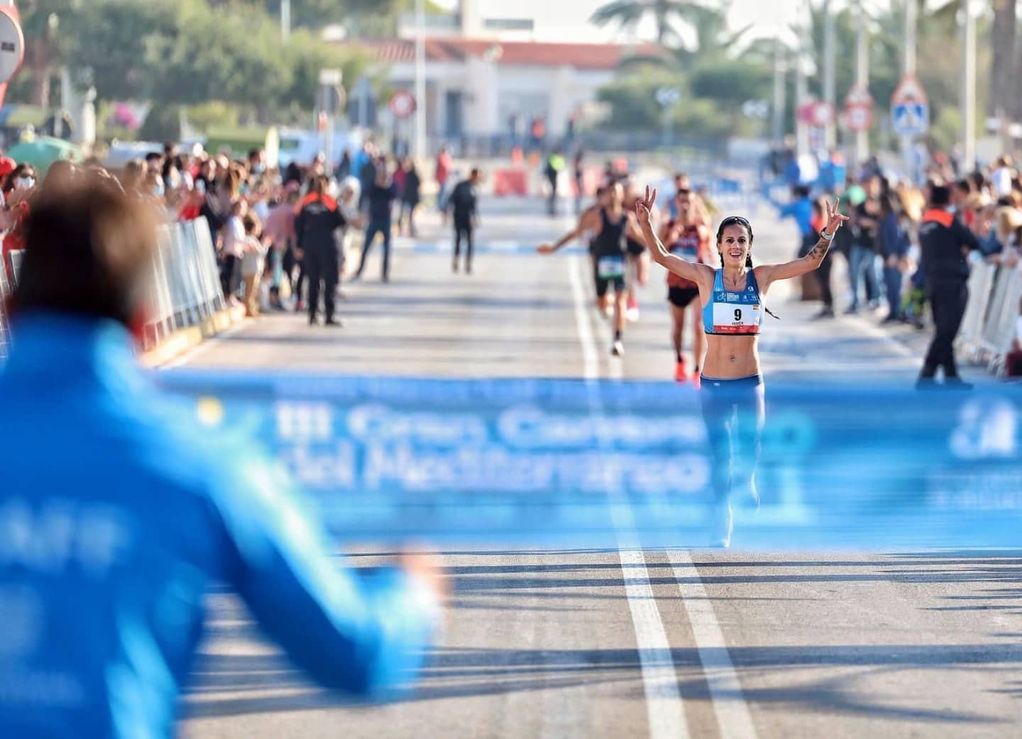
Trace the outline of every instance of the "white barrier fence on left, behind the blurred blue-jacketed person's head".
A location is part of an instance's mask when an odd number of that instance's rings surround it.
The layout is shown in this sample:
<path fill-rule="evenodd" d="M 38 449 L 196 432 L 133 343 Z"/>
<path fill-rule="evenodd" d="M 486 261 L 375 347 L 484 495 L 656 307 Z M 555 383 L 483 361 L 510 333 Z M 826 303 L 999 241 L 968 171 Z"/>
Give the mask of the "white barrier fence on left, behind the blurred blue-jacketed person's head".
<path fill-rule="evenodd" d="M 144 348 L 151 349 L 173 332 L 197 326 L 227 303 L 220 286 L 216 248 L 205 218 L 168 224 L 159 229 L 159 249 L 152 263 L 151 302 Z M 16 285 L 21 253 L 10 253 L 14 285 L 0 268 L 0 359 L 7 356 L 10 331 L 3 303 Z"/>

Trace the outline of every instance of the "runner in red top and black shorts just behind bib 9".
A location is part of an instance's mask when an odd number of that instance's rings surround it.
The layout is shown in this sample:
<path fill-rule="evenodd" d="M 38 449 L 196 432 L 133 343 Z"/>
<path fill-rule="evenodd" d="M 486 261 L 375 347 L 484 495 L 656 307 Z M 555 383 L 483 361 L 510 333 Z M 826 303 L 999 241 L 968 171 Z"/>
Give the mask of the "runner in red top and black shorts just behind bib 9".
<path fill-rule="evenodd" d="M 660 241 L 668 244 L 667 250 L 676 256 L 692 263 L 709 263 L 709 229 L 697 212 L 697 204 L 693 202 L 692 193 L 680 189 L 675 194 L 675 212 L 671 218 L 660 229 Z M 703 332 L 702 316 L 698 307 L 688 310 L 689 305 L 699 298 L 699 286 L 691 280 L 667 273 L 667 302 L 670 304 L 670 339 L 675 345 L 675 381 L 688 382 L 699 387 L 699 367 L 702 364 L 703 352 L 706 350 L 706 336 Z M 696 303 L 698 306 L 698 303 Z M 693 362 L 692 375 L 689 375 L 683 349 L 685 347 L 686 312 L 692 316 Z"/>

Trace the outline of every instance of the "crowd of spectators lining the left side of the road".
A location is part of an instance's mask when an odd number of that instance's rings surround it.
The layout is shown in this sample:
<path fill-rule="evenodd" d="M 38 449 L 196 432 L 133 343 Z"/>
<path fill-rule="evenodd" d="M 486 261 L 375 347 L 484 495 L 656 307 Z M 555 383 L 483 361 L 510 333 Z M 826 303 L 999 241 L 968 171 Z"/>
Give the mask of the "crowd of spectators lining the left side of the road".
<path fill-rule="evenodd" d="M 117 171 L 98 159 L 57 161 L 40 182 L 32 165 L 0 157 L 0 229 L 8 273 L 9 252 L 24 246 L 20 224 L 34 197 L 60 180 L 86 177 L 102 178 L 150 202 L 168 223 L 205 218 L 224 295 L 231 304 L 243 304 L 249 315 L 306 308 L 305 254 L 294 223 L 312 182 L 326 178 L 329 195 L 343 215 L 345 228 L 335 234 L 338 269 L 343 272 L 347 252 L 368 226 L 359 263 L 364 266 L 372 241 L 382 235 L 384 278 L 393 227 L 410 236 L 417 233 L 422 185 L 410 158 L 387 157 L 371 143 L 355 156 L 345 152 L 332 173 L 326 170 L 323 155 L 305 166 L 290 163 L 278 169 L 268 165 L 261 149 L 232 159 L 227 152 L 211 153 L 200 146 L 183 150 L 168 143 L 162 151 L 130 160 Z M 391 213 L 397 215 L 393 221 Z"/>

